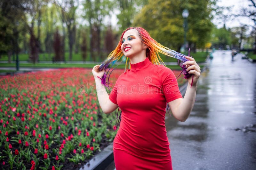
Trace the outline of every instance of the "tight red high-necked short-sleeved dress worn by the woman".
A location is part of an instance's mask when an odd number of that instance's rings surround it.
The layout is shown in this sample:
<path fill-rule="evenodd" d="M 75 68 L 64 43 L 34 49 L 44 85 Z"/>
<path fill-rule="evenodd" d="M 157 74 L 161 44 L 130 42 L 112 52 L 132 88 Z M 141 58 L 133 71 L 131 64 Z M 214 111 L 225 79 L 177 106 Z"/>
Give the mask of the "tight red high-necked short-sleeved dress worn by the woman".
<path fill-rule="evenodd" d="M 116 170 L 172 170 L 166 104 L 182 98 L 173 72 L 148 58 L 119 76 L 109 99 L 122 110 L 114 139 Z"/>

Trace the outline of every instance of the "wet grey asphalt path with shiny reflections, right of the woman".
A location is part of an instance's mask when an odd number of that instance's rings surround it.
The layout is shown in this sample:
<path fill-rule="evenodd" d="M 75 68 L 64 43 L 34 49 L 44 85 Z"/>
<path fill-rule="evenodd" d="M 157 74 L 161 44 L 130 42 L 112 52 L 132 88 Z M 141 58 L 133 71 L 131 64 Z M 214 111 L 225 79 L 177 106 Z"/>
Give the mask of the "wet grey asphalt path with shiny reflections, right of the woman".
<path fill-rule="evenodd" d="M 167 117 L 174 170 L 256 169 L 256 63 L 216 51 L 190 117 Z"/>

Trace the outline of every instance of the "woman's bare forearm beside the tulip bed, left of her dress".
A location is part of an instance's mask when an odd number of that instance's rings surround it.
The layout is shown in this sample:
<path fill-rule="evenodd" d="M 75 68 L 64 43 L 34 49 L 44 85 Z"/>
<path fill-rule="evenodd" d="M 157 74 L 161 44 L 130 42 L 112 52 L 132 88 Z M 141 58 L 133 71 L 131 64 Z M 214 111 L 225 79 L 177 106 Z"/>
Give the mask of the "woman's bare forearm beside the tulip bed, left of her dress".
<path fill-rule="evenodd" d="M 108 100 L 108 93 L 106 91 L 106 88 L 104 85 L 101 84 L 100 78 L 96 77 L 95 78 L 95 84 L 96 84 L 96 91 L 97 91 L 97 97 L 98 101 L 100 103 L 100 107 L 102 111 L 105 113 L 107 110 L 107 100 Z"/>

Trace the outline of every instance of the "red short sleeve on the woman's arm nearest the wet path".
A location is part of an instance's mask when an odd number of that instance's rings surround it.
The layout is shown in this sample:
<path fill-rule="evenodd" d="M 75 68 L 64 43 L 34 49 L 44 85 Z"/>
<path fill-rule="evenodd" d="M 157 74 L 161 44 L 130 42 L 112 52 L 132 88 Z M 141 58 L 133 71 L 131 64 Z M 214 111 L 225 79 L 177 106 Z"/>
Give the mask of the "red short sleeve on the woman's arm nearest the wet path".
<path fill-rule="evenodd" d="M 175 99 L 182 98 L 177 79 L 168 67 L 160 65 L 157 69 L 162 82 L 162 88 L 166 102 L 169 103 Z"/>

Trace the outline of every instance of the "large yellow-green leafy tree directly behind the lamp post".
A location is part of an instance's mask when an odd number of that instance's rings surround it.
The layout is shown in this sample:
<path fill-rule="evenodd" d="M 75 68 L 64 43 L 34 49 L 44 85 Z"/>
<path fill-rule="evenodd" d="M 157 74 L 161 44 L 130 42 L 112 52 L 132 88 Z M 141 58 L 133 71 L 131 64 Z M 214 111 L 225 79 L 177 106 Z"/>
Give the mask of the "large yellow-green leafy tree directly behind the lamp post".
<path fill-rule="evenodd" d="M 210 39 L 213 27 L 211 11 L 215 0 L 181 0 L 161 1 L 149 0 L 134 19 L 134 26 L 142 26 L 158 42 L 180 51 L 184 43 L 184 29 L 182 11 L 187 9 L 188 16 L 188 42 L 194 47 L 203 48 Z"/>

